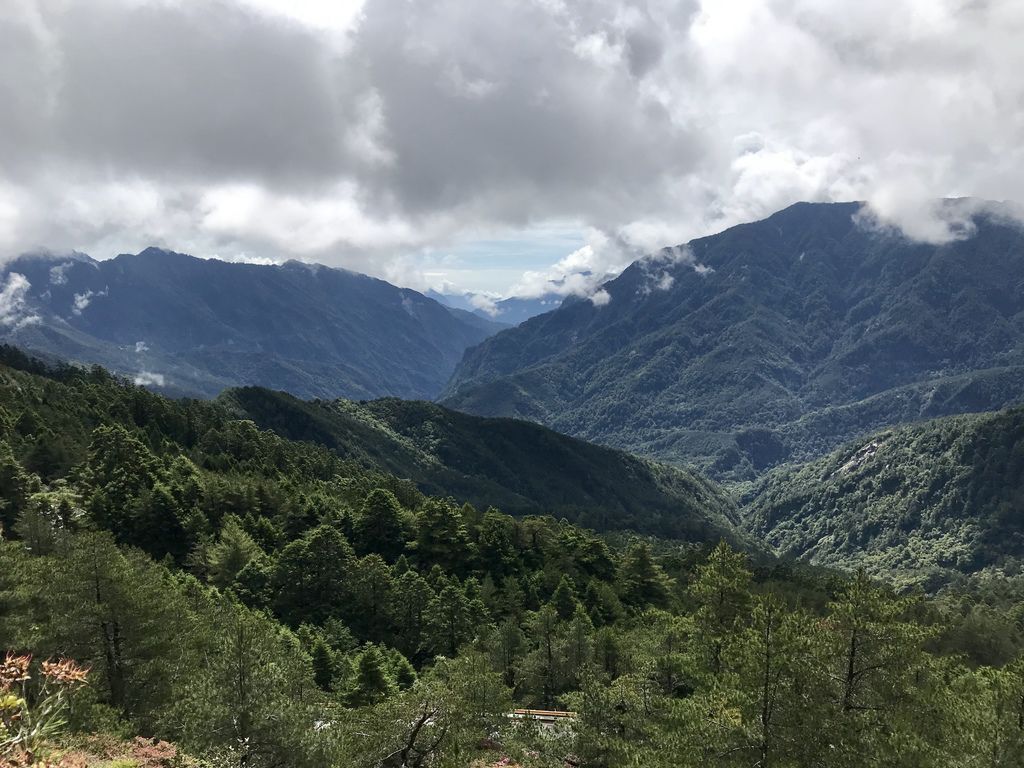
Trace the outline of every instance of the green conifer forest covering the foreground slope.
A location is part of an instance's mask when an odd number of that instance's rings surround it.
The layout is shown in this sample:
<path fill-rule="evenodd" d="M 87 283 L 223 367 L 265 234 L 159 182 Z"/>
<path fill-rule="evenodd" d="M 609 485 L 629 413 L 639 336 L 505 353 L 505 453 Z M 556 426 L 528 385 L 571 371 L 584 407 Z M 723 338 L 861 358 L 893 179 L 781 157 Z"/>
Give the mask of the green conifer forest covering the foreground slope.
<path fill-rule="evenodd" d="M 1019 578 L 897 592 L 513 517 L 2 361 L 0 764 L 143 736 L 197 768 L 1024 765 Z"/>

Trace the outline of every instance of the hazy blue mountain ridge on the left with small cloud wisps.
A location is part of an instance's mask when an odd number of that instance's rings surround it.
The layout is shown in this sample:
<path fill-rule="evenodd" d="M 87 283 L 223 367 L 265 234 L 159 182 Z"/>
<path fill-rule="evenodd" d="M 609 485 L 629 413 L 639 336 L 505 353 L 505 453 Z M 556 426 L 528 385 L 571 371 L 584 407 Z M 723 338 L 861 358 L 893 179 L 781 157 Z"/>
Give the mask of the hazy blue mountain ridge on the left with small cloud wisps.
<path fill-rule="evenodd" d="M 343 269 L 227 263 L 150 248 L 5 265 L 0 338 L 171 394 L 260 384 L 303 396 L 432 397 L 500 326 Z"/>

